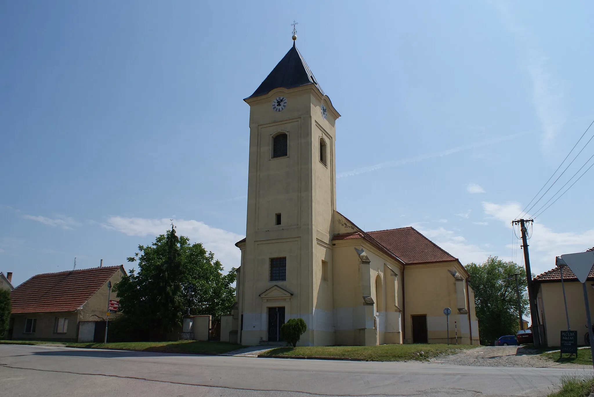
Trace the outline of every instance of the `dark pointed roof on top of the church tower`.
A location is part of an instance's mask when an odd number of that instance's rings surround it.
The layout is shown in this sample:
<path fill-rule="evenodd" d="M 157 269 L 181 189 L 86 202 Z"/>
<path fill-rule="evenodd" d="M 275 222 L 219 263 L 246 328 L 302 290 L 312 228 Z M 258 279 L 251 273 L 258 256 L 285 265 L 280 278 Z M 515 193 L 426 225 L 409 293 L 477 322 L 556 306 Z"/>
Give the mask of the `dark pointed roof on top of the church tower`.
<path fill-rule="evenodd" d="M 324 91 L 322 91 L 311 70 L 309 70 L 305 59 L 303 59 L 303 56 L 301 56 L 301 53 L 295 47 L 295 43 L 293 43 L 293 47 L 291 47 L 289 52 L 272 69 L 268 77 L 260 84 L 260 87 L 248 98 L 266 95 L 274 90 L 274 88 L 295 88 L 307 84 L 314 84 L 322 95 L 324 95 Z"/>

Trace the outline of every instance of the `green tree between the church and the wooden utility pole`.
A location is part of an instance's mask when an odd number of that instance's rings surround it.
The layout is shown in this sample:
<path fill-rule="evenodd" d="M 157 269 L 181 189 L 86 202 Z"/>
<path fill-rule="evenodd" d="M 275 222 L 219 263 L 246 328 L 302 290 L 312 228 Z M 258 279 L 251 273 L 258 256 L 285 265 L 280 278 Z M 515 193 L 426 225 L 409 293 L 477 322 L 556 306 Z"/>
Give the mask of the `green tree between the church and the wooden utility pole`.
<path fill-rule="evenodd" d="M 519 329 L 516 280 L 518 274 L 522 312 L 528 312 L 526 269 L 497 256 L 477 265 L 465 266 L 469 284 L 475 291 L 476 317 L 479 320 L 481 344 L 490 345 L 502 335 L 515 335 Z"/>

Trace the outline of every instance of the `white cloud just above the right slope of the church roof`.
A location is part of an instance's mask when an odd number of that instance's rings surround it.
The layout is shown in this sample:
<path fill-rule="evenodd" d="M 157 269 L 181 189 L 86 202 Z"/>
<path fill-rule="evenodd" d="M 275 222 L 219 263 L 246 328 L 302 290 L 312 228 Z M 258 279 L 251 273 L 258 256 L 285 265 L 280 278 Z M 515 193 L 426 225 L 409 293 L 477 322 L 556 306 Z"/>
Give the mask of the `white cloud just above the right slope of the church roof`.
<path fill-rule="evenodd" d="M 424 234 L 429 240 L 449 252 L 451 255 L 460 259 L 462 265 L 470 262 L 484 262 L 490 252 L 486 252 L 474 244 L 469 244 L 463 236 L 443 227 L 437 229 L 426 229 L 421 223 L 412 225 L 416 230 Z"/>

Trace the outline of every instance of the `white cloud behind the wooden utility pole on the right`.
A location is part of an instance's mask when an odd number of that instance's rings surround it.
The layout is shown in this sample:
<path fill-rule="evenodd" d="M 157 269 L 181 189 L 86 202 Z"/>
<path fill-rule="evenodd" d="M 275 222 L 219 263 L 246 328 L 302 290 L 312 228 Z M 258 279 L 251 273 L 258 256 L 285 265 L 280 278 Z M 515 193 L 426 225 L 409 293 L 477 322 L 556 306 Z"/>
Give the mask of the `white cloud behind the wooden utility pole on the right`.
<path fill-rule="evenodd" d="M 508 204 L 483 202 L 482 205 L 486 215 L 503 222 L 507 228 L 511 228 L 511 221 L 522 212 L 520 204 L 515 202 Z M 530 215 L 526 215 L 525 218 L 529 217 Z M 517 226 L 516 233 L 520 236 Z M 532 225 L 528 244 L 530 246 L 530 268 L 533 273 L 540 274 L 555 267 L 555 256 L 564 253 L 582 252 L 594 246 L 594 229 L 581 233 L 575 231 L 558 232 L 535 221 Z M 511 248 L 511 244 L 508 247 Z M 519 256 L 519 262 L 523 263 L 522 253 Z"/>

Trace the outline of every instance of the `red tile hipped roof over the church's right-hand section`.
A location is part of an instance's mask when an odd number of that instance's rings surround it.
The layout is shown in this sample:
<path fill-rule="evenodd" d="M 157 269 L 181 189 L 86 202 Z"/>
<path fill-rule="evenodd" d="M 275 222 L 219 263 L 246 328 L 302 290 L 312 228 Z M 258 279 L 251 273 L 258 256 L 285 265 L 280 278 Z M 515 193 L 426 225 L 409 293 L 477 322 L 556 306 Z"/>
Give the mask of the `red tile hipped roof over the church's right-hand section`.
<path fill-rule="evenodd" d="M 457 258 L 445 252 L 413 227 L 368 231 L 367 233 L 405 263 L 457 261 Z"/>

